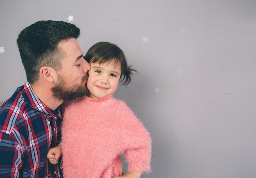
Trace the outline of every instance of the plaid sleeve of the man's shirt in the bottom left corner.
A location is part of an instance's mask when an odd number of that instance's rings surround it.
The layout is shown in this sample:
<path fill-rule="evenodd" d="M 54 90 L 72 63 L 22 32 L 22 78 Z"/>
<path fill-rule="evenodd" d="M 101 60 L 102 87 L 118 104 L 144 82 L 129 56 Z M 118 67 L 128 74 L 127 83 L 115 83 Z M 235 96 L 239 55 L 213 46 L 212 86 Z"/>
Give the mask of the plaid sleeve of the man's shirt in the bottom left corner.
<path fill-rule="evenodd" d="M 14 137 L 0 131 L 0 177 L 18 178 L 22 167 L 22 151 Z"/>

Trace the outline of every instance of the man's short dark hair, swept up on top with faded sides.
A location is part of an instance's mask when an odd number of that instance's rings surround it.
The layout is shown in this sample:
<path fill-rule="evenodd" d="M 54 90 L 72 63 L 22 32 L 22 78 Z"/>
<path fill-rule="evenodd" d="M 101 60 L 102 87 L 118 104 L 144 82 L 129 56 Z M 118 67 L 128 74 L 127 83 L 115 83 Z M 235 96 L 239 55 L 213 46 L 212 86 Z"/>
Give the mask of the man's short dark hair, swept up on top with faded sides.
<path fill-rule="evenodd" d="M 27 81 L 33 84 L 38 80 L 43 66 L 61 69 L 60 60 L 64 57 L 58 50 L 62 40 L 78 38 L 80 29 L 63 21 L 38 21 L 23 29 L 17 39 L 20 58 L 26 71 Z"/>

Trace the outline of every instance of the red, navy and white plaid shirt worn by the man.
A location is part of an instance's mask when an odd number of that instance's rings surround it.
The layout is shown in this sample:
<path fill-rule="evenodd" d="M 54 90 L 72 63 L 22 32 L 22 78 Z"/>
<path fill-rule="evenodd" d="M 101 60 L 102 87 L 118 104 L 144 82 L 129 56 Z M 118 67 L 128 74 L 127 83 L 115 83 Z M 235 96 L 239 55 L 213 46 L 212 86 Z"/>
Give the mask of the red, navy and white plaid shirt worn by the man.
<path fill-rule="evenodd" d="M 61 121 L 59 110 L 45 106 L 28 82 L 1 102 L 0 177 L 62 177 L 59 164 L 46 158 L 60 141 Z"/>

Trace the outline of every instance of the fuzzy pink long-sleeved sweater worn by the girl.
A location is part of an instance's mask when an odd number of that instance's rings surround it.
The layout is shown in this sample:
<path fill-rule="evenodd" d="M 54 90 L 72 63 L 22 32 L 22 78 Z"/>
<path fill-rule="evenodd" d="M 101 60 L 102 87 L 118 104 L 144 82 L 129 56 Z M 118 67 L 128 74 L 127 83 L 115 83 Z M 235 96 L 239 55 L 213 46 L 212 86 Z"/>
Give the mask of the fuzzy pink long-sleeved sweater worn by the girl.
<path fill-rule="evenodd" d="M 151 138 L 125 102 L 84 96 L 67 102 L 63 116 L 65 178 L 121 176 L 120 153 L 128 171 L 150 171 Z"/>

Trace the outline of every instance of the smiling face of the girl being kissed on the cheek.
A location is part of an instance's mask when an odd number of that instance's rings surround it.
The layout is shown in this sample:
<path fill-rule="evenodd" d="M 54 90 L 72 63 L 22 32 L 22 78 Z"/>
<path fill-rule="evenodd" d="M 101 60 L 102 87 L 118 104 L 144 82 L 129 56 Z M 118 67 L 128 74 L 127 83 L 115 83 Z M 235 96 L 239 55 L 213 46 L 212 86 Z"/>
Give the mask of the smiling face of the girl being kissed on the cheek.
<path fill-rule="evenodd" d="M 115 65 L 115 61 L 107 63 L 90 63 L 91 70 L 87 87 L 90 91 L 90 98 L 98 99 L 112 95 L 117 90 L 121 77 L 121 65 Z"/>

